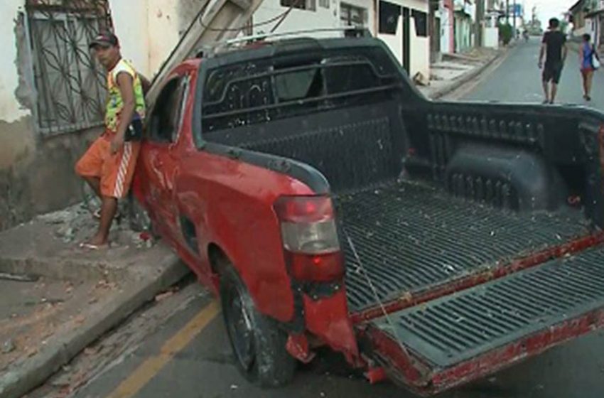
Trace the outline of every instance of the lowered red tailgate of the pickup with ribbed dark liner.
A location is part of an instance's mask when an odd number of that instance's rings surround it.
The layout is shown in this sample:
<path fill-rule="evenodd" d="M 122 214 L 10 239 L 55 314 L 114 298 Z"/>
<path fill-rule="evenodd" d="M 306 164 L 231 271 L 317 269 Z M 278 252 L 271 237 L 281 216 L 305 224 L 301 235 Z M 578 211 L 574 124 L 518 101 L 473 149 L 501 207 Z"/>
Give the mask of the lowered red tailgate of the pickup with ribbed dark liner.
<path fill-rule="evenodd" d="M 395 380 L 433 394 L 603 326 L 599 246 L 374 319 L 366 336 Z"/>

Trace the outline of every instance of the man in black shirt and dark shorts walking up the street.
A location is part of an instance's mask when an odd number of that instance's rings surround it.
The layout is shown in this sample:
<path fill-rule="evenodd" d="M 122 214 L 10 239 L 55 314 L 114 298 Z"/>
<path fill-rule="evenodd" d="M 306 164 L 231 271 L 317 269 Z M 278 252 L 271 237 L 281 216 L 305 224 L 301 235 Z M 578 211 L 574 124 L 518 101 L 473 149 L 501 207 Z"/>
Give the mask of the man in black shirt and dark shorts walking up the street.
<path fill-rule="evenodd" d="M 539 53 L 539 69 L 543 68 L 541 75 L 543 79 L 543 90 L 545 94 L 544 104 L 553 104 L 558 92 L 558 84 L 562 74 L 564 61 L 568 48 L 566 48 L 566 35 L 559 31 L 560 21 L 558 18 L 549 20 L 549 29 L 541 41 Z M 545 56 L 545 64 L 543 58 Z M 551 84 L 551 90 L 550 90 Z"/>

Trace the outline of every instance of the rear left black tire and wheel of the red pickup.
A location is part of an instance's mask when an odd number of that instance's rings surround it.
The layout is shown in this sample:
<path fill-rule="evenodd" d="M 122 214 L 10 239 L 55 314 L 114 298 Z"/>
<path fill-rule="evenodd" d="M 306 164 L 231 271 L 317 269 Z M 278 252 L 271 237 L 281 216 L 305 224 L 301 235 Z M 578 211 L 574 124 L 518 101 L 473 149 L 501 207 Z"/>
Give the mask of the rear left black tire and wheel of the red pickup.
<path fill-rule="evenodd" d="M 259 313 L 233 267 L 222 269 L 222 316 L 239 371 L 261 387 L 281 387 L 293 379 L 296 360 L 286 350 L 287 334 Z"/>

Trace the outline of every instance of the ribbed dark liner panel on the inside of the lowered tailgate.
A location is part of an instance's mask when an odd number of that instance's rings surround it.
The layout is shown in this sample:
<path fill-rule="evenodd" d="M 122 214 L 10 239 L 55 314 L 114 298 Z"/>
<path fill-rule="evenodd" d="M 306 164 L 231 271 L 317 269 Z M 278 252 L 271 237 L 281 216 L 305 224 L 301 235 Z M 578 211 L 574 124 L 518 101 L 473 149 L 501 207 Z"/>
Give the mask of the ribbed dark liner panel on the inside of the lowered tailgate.
<path fill-rule="evenodd" d="M 554 259 L 379 318 L 391 338 L 449 367 L 604 306 L 604 249 Z M 392 330 L 392 326 L 396 330 Z"/>

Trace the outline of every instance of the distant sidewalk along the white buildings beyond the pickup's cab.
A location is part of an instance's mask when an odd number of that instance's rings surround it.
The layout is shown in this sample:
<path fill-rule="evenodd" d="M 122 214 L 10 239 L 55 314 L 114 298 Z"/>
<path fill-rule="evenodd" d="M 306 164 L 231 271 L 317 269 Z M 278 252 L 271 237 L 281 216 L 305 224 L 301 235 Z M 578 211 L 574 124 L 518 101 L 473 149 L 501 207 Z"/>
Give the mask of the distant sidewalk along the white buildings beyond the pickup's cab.
<path fill-rule="evenodd" d="M 480 48 L 464 54 L 443 54 L 443 60 L 430 67 L 430 85 L 416 87 L 426 97 L 439 99 L 478 77 L 512 47 L 513 45 L 499 50 Z"/>

